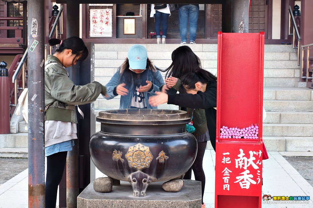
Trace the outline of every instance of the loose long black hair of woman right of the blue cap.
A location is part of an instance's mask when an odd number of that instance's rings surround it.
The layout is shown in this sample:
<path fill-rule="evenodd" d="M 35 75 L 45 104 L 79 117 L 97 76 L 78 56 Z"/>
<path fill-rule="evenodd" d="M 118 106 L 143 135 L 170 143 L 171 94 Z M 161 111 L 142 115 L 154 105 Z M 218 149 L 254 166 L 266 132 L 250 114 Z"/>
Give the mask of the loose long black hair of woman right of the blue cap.
<path fill-rule="evenodd" d="M 180 46 L 172 52 L 172 63 L 162 72 L 166 72 L 165 77 L 181 78 L 182 75 L 194 72 L 201 67 L 200 58 L 194 54 L 188 46 Z"/>

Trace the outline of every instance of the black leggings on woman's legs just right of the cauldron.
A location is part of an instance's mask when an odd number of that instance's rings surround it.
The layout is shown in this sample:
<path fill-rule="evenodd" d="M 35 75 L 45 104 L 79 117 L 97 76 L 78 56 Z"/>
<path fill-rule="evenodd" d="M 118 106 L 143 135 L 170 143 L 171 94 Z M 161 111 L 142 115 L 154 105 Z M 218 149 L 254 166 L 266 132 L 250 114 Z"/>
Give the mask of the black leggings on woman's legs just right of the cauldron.
<path fill-rule="evenodd" d="M 191 179 L 191 170 L 195 175 L 196 181 L 201 181 L 201 194 L 202 194 L 202 203 L 203 203 L 203 194 L 204 194 L 204 186 L 205 186 L 205 175 L 202 167 L 202 161 L 204 156 L 204 151 L 207 146 L 207 142 L 198 142 L 198 151 L 196 160 L 192 164 L 191 168 L 186 172 L 184 179 Z"/>

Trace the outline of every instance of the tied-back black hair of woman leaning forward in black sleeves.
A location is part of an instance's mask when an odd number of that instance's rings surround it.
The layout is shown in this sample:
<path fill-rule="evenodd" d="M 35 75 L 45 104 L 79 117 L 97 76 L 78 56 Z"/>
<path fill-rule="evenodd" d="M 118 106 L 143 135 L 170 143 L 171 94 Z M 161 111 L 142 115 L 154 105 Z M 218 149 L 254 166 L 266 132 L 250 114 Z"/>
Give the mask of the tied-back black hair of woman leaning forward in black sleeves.
<path fill-rule="evenodd" d="M 184 88 L 193 90 L 197 82 L 207 84 L 208 82 L 216 82 L 217 78 L 210 72 L 204 69 L 196 69 L 195 72 L 185 74 L 181 78 L 181 90 L 185 92 Z"/>

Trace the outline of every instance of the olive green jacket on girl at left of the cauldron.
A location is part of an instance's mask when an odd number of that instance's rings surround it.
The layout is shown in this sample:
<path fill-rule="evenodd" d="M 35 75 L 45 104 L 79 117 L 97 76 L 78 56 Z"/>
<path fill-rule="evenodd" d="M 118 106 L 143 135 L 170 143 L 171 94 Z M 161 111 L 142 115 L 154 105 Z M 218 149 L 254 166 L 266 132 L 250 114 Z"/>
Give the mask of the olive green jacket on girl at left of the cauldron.
<path fill-rule="evenodd" d="M 48 64 L 55 62 L 47 67 Z M 46 68 L 47 67 L 47 68 Z M 77 86 L 68 77 L 60 60 L 48 55 L 44 70 L 44 104 L 46 120 L 77 122 L 75 105 L 94 102 L 106 89 L 99 82 Z"/>

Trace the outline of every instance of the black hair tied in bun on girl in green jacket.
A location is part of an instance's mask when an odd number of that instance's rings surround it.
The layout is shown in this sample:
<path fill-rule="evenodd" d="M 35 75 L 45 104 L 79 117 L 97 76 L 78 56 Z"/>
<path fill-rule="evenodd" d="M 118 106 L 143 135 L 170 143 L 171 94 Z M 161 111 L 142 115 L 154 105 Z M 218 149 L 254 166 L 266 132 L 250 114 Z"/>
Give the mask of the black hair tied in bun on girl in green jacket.
<path fill-rule="evenodd" d="M 48 42 L 50 46 L 55 46 L 57 44 L 60 44 L 61 40 L 52 38 L 48 40 Z M 66 49 L 71 49 L 72 54 L 75 55 L 72 64 L 74 64 L 74 60 L 76 59 L 76 57 L 80 55 L 81 56 L 77 59 L 77 61 L 84 61 L 88 57 L 88 49 L 85 46 L 84 41 L 79 37 L 73 36 L 65 39 L 64 41 L 62 41 L 60 47 L 55 50 L 55 52 L 62 52 Z"/>

